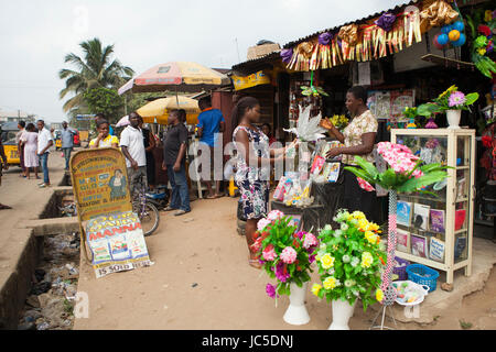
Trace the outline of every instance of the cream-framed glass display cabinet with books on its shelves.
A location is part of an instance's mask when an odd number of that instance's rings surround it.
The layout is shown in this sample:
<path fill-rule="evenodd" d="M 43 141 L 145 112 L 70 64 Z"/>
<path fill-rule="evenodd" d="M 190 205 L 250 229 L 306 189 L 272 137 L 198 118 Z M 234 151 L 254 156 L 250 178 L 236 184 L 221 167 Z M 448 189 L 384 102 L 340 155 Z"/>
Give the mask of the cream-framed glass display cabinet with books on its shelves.
<path fill-rule="evenodd" d="M 475 130 L 393 129 L 391 142 L 410 147 L 427 164 L 451 166 L 449 177 L 425 188 L 430 194 L 399 194 L 397 256 L 446 272 L 472 271 Z"/>

